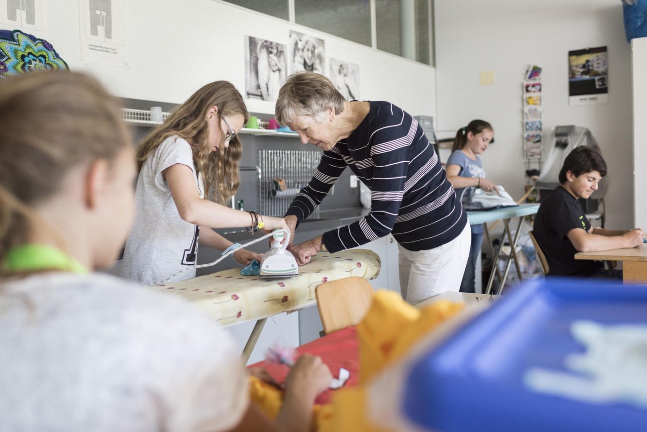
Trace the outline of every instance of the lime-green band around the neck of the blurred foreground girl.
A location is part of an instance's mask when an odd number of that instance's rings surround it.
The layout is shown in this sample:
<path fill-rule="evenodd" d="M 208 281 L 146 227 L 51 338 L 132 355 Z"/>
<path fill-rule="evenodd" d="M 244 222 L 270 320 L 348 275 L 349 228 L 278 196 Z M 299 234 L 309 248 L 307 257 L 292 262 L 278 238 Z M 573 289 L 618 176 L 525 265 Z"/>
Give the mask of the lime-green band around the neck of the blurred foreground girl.
<path fill-rule="evenodd" d="M 23 244 L 23 246 L 11 248 L 6 253 L 2 266 L 12 272 L 52 269 L 89 273 L 89 270 L 76 259 L 46 244 Z"/>

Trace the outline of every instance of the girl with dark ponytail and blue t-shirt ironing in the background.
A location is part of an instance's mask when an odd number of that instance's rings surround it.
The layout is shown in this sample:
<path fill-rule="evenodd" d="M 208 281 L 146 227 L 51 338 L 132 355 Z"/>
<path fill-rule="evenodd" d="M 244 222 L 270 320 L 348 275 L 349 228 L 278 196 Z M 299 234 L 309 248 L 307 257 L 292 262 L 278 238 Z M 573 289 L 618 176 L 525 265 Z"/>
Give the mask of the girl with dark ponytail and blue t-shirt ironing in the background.
<path fill-rule="evenodd" d="M 478 157 L 494 141 L 493 136 L 492 125 L 483 120 L 472 120 L 456 132 L 452 155 L 447 160 L 445 171 L 447 180 L 454 186 L 456 195 L 461 199 L 461 202 L 466 199 L 470 191 L 473 191 L 472 188 L 481 188 L 486 192 L 498 192 L 496 184 L 485 178 L 485 170 L 481 164 L 481 158 Z M 461 282 L 461 292 L 476 292 L 474 278 L 476 260 L 481 252 L 481 243 L 483 243 L 483 225 L 472 225 L 471 228 L 472 246 Z"/>

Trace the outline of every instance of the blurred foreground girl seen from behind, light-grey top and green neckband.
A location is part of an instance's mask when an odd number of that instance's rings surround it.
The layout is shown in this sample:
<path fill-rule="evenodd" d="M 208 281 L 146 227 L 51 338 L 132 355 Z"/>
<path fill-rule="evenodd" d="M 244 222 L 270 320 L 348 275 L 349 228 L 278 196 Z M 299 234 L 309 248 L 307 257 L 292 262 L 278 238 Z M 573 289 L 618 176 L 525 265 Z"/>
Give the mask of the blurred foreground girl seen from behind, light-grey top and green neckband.
<path fill-rule="evenodd" d="M 292 367 L 271 423 L 214 321 L 94 273 L 115 263 L 135 211 L 115 98 L 78 73 L 5 78 L 0 130 L 1 429 L 309 430 L 331 382 L 320 358 Z"/>

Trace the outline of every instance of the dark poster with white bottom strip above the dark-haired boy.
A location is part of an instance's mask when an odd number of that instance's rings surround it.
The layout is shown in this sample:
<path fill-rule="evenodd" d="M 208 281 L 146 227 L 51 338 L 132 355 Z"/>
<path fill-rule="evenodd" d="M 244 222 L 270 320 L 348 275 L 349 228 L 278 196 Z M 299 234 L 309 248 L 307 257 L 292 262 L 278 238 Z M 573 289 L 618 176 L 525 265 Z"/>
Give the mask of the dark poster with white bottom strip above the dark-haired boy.
<path fill-rule="evenodd" d="M 568 52 L 569 105 L 607 103 L 607 47 Z"/>

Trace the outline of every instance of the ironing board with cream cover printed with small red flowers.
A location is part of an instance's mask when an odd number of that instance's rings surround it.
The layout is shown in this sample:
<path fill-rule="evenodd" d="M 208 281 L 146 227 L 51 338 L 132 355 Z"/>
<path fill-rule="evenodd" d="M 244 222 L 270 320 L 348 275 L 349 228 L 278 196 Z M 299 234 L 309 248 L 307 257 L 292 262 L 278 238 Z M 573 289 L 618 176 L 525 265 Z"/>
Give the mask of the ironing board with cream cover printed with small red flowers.
<path fill-rule="evenodd" d="M 243 360 L 256 345 L 268 317 L 316 304 L 314 288 L 348 276 L 373 279 L 380 273 L 380 257 L 371 250 L 319 252 L 299 275 L 281 279 L 243 276 L 239 268 L 194 277 L 186 281 L 149 286 L 152 290 L 184 297 L 223 326 L 256 320 L 243 350 Z"/>

